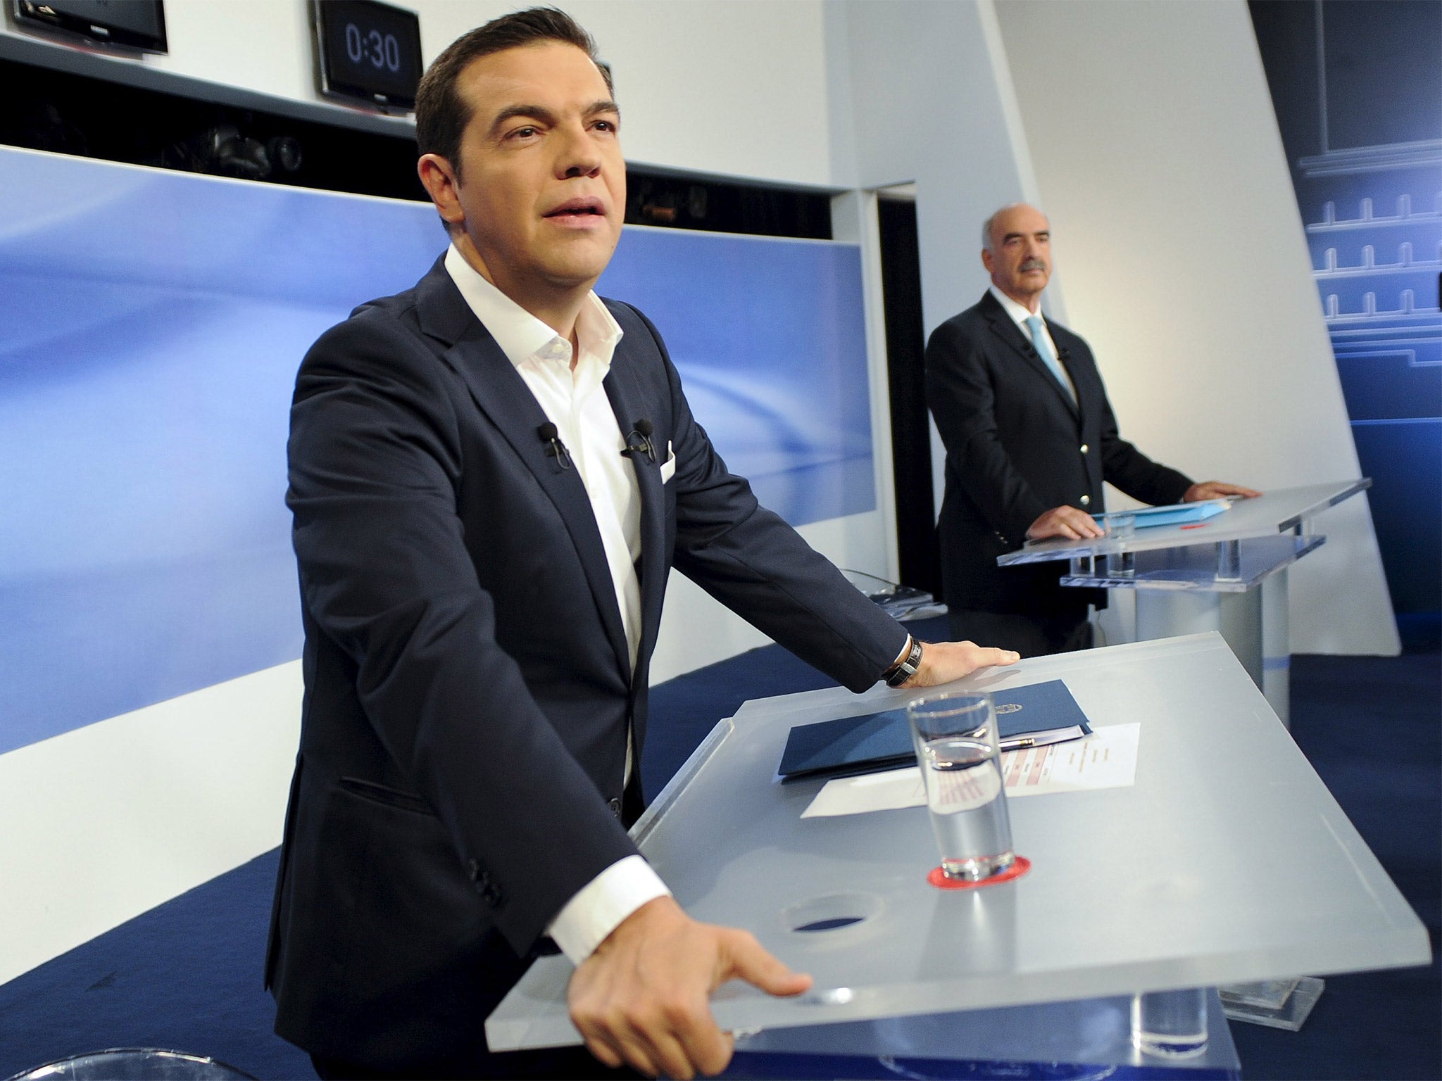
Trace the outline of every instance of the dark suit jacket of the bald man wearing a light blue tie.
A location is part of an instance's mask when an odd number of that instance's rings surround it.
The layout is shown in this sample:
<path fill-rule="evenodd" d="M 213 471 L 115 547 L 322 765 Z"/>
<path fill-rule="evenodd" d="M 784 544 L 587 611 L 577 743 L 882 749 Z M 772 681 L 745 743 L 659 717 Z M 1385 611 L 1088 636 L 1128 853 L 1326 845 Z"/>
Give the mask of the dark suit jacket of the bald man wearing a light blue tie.
<path fill-rule="evenodd" d="M 1105 590 L 1060 585 L 1064 561 L 999 568 L 996 556 L 1021 548 L 1051 507 L 1099 513 L 1103 481 L 1154 504 L 1191 487 L 1118 434 L 1087 343 L 1060 323 L 1047 329 L 1076 402 L 989 290 L 926 343 L 926 401 L 946 445 L 937 529 L 952 607 L 1048 617 L 1103 605 Z"/>

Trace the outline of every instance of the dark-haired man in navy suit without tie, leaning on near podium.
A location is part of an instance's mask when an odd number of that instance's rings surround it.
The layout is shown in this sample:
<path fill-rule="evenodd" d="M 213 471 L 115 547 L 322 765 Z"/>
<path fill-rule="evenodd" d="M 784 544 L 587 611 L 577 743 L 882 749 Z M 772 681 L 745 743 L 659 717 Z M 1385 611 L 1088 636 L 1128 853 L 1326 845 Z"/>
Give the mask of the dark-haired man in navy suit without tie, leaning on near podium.
<path fill-rule="evenodd" d="M 306 702 L 267 984 L 323 1077 L 585 1071 L 486 1048 L 548 935 L 607 1067 L 717 1072 L 711 990 L 809 986 L 691 920 L 626 835 L 672 565 L 855 690 L 1015 659 L 883 615 L 727 471 L 646 317 L 591 291 L 619 120 L 559 12 L 451 45 L 417 101 L 451 246 L 297 376 Z"/>

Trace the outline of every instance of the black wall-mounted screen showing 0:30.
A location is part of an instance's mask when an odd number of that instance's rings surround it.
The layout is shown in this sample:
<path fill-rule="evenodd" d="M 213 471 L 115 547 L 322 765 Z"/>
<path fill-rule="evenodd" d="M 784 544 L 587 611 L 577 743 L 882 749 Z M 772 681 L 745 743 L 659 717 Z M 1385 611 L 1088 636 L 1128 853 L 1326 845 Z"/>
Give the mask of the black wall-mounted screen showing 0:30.
<path fill-rule="evenodd" d="M 378 0 L 313 0 L 320 92 L 372 108 L 415 108 L 421 19 Z"/>

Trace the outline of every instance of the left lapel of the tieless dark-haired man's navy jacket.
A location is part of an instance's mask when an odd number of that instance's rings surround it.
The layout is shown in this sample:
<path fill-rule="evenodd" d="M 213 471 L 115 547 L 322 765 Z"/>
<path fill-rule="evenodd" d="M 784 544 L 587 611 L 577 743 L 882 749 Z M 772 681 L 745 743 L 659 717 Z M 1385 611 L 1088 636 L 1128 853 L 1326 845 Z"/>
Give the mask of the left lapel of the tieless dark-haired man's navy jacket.
<path fill-rule="evenodd" d="M 630 650 L 616 604 L 616 585 L 606 561 L 606 548 L 596 528 L 596 513 L 581 474 L 574 466 L 565 468 L 547 454 L 547 444 L 536 434 L 536 428 L 547 422 L 545 411 L 466 304 L 441 262 L 417 285 L 417 313 L 421 330 L 446 346 L 441 357 L 466 381 L 476 405 L 506 438 L 559 512 L 601 614 L 606 637 L 629 679 Z"/>

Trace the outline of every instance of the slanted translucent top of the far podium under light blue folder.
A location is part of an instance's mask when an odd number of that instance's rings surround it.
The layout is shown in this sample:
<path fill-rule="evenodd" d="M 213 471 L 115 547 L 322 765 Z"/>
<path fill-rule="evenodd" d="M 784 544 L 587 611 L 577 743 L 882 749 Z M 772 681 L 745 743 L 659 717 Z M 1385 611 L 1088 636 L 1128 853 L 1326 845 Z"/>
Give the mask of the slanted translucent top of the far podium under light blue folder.
<path fill-rule="evenodd" d="M 1213 545 L 1224 540 L 1247 540 L 1257 536 L 1275 536 L 1319 515 L 1344 499 L 1371 487 L 1371 480 L 1337 480 L 1327 484 L 1305 484 L 1295 489 L 1266 491 L 1256 499 L 1239 499 L 1231 509 L 1200 523 L 1177 526 L 1151 526 L 1126 536 L 1097 536 L 1086 540 L 1063 540 L 1053 538 L 1028 543 L 1015 552 L 996 556 L 999 566 L 1015 564 L 1040 564 L 1054 559 L 1073 559 L 1087 555 L 1122 555 L 1125 552 L 1149 552 L 1158 548 L 1184 548 L 1188 545 Z M 1113 512 L 1126 513 L 1126 512 Z"/>

